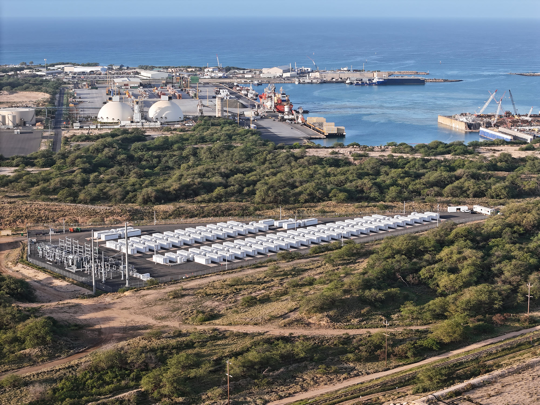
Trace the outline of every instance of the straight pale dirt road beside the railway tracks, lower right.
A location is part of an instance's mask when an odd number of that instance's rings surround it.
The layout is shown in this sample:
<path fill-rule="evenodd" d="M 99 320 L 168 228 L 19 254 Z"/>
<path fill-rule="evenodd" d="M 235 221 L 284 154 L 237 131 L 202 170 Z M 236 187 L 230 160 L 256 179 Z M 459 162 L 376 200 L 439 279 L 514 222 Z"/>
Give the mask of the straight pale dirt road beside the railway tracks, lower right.
<path fill-rule="evenodd" d="M 361 377 L 354 377 L 352 379 L 348 379 L 348 380 L 345 380 L 345 381 L 342 381 L 342 382 L 339 382 L 339 383 L 336 383 L 336 384 L 330 384 L 330 385 L 325 385 L 325 386 L 321 386 L 321 387 L 318 387 L 318 388 L 312 388 L 312 389 L 310 389 L 310 390 L 308 390 L 308 391 L 306 391 L 304 393 L 301 393 L 301 394 L 296 394 L 296 395 L 293 395 L 293 396 L 289 396 L 287 398 L 280 399 L 278 401 L 269 402 L 267 405 L 285 405 L 285 404 L 292 403 L 292 402 L 295 402 L 295 401 L 306 400 L 308 398 L 312 398 L 312 397 L 315 397 L 315 396 L 327 394 L 327 393 L 333 392 L 333 391 L 338 390 L 338 389 L 342 389 L 342 388 L 345 388 L 345 387 L 350 387 L 350 386 L 352 386 L 354 384 L 360 384 L 362 382 L 366 382 L 366 381 L 369 381 L 369 380 L 375 380 L 375 379 L 378 379 L 380 377 L 384 377 L 384 376 L 387 376 L 387 375 L 390 375 L 390 374 L 394 374 L 394 373 L 401 372 L 401 371 L 404 371 L 404 370 L 409 370 L 409 369 L 414 368 L 414 367 L 418 367 L 418 366 L 426 365 L 426 364 L 429 364 L 429 363 L 433 363 L 434 361 L 445 359 L 446 357 L 450 357 L 450 356 L 453 356 L 455 354 L 468 352 L 469 350 L 473 350 L 473 349 L 476 349 L 478 347 L 491 345 L 491 343 L 500 342 L 501 340 L 504 340 L 504 339 L 514 338 L 515 336 L 518 336 L 518 335 L 521 335 L 521 334 L 524 334 L 524 333 L 533 332 L 535 330 L 540 330 L 540 326 L 535 326 L 534 328 L 529 328 L 529 329 L 517 330 L 516 332 L 510 332 L 510 333 L 507 333 L 507 334 L 504 334 L 504 335 L 501 335 L 501 336 L 497 336 L 496 338 L 486 339 L 486 340 L 483 340 L 481 342 L 473 343 L 472 345 L 462 347 L 461 349 L 456 349 L 456 350 L 452 350 L 451 352 L 448 352 L 448 353 L 443 353 L 443 354 L 439 354 L 437 356 L 429 357 L 428 359 L 424 359 L 422 361 L 419 361 L 419 362 L 416 362 L 416 363 L 413 363 L 413 364 L 410 364 L 410 365 L 407 365 L 407 366 L 397 367 L 397 368 L 394 368 L 392 370 L 386 370 L 386 371 L 380 372 L 380 373 L 374 373 L 374 374 L 370 374 L 370 375 L 363 375 Z"/>

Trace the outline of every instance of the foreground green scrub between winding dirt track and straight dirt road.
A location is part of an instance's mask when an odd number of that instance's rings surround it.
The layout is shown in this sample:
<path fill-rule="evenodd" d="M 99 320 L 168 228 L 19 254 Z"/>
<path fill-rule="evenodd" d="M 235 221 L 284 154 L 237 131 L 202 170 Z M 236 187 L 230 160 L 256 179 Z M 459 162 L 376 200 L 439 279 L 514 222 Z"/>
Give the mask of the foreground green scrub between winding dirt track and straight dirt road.
<path fill-rule="evenodd" d="M 390 363 L 417 359 L 415 342 L 424 335 L 407 331 L 394 336 Z M 227 360 L 233 376 L 231 399 L 246 403 L 256 397 L 269 402 L 318 382 L 380 370 L 384 344 L 382 333 L 325 338 L 152 330 L 93 353 L 54 380 L 38 377 L 50 388 L 29 404 L 84 404 L 139 387 L 150 397 L 146 403 L 174 403 L 181 398 L 183 403 L 215 403 L 227 400 Z"/>

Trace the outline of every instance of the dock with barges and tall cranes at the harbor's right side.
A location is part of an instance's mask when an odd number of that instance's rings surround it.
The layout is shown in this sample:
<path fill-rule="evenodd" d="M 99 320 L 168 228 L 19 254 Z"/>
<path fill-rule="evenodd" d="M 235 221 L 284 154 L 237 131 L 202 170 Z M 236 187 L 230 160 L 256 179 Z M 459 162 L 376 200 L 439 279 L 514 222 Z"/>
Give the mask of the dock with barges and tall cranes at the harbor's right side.
<path fill-rule="evenodd" d="M 538 132 L 540 131 L 540 112 L 538 114 L 532 114 L 533 108 L 531 107 L 528 114 L 518 114 L 514 97 L 510 90 L 508 90 L 508 95 L 512 103 L 513 113 L 510 110 L 505 111 L 502 100 L 506 92 L 497 100 L 497 91 L 489 91 L 490 96 L 480 111 L 454 114 L 453 116 L 438 116 L 437 122 L 457 130 L 478 131 L 481 137 L 491 140 L 523 140 L 530 143 L 538 137 Z M 484 113 L 492 101 L 497 104 L 497 111 L 495 113 Z"/>

